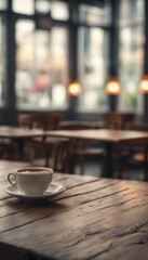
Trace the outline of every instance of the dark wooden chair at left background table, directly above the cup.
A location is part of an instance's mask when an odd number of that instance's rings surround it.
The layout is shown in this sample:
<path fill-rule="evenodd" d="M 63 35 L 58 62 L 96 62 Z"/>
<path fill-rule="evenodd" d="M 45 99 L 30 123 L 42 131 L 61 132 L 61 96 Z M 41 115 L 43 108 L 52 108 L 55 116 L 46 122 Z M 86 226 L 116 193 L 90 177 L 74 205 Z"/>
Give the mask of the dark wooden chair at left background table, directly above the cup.
<path fill-rule="evenodd" d="M 55 130 L 57 123 L 63 118 L 62 113 L 33 113 L 33 114 L 18 114 L 17 121 L 18 126 L 27 127 L 29 129 L 39 128 L 42 130 Z M 67 139 L 56 139 L 56 138 L 33 138 L 29 141 L 30 151 L 30 161 L 33 162 L 37 151 L 39 153 L 38 157 L 44 157 L 44 166 L 49 166 L 49 159 L 53 161 L 54 170 L 56 170 L 55 161 L 59 154 L 58 145 L 60 151 L 63 148 L 62 143 L 67 143 Z M 56 153 L 55 153 L 56 151 Z M 51 162 L 52 164 L 52 162 Z"/>

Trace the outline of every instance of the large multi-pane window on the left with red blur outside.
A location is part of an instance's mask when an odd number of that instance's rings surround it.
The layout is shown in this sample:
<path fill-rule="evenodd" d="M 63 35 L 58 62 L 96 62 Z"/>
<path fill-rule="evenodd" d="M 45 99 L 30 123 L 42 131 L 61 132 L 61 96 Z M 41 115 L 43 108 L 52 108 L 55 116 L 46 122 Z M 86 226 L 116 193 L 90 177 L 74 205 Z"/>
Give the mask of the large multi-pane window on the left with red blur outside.
<path fill-rule="evenodd" d="M 11 91 L 14 90 L 10 96 L 11 104 L 16 101 L 14 109 L 67 108 L 68 21 L 69 3 L 66 1 L 0 0 L 0 105 L 5 99 L 8 77 Z M 6 26 L 15 32 L 15 37 L 9 34 L 8 46 Z M 16 49 L 11 50 L 11 46 Z M 11 72 L 5 69 L 10 50 L 15 53 L 15 60 L 11 55 L 15 69 Z"/>

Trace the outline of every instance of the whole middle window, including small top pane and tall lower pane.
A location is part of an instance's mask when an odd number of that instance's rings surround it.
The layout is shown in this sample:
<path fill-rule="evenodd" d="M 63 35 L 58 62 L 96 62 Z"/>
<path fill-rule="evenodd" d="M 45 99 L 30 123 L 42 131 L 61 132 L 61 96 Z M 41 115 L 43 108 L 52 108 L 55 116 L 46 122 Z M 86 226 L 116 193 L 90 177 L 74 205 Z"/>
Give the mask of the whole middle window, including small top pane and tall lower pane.
<path fill-rule="evenodd" d="M 105 4 L 106 3 L 106 4 Z M 111 13 L 108 1 L 100 6 L 80 4 L 78 35 L 78 74 L 82 84 L 79 110 L 98 112 L 108 108 L 105 83 L 108 77 Z"/>

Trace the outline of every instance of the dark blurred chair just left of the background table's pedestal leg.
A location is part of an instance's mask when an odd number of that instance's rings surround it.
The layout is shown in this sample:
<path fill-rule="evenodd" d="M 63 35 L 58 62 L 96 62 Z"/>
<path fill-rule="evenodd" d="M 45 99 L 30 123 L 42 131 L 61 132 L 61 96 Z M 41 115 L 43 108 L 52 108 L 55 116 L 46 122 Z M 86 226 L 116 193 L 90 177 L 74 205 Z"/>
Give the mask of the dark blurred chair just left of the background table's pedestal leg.
<path fill-rule="evenodd" d="M 58 129 L 60 130 L 85 130 L 97 129 L 98 125 L 88 121 L 60 121 Z M 69 161 L 71 161 L 70 171 L 73 171 L 75 165 L 80 165 L 80 172 L 83 174 L 83 162 L 88 158 L 100 158 L 103 157 L 103 150 L 95 146 L 96 143 L 85 140 L 72 140 L 69 148 Z"/>

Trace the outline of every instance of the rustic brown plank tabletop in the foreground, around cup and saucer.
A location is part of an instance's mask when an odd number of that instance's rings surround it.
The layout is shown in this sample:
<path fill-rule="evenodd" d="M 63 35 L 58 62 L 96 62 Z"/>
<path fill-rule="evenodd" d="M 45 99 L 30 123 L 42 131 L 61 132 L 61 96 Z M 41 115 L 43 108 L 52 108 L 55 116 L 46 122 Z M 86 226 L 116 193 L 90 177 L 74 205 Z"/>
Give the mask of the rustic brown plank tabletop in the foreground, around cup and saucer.
<path fill-rule="evenodd" d="M 6 174 L 18 167 L 0 162 L 2 260 L 148 259 L 148 183 L 54 173 L 67 190 L 26 204 L 5 193 Z"/>

